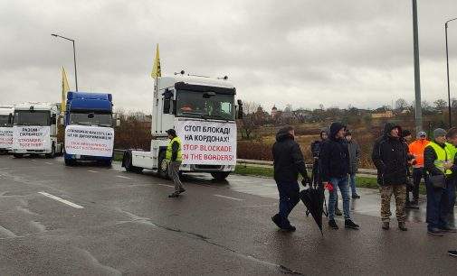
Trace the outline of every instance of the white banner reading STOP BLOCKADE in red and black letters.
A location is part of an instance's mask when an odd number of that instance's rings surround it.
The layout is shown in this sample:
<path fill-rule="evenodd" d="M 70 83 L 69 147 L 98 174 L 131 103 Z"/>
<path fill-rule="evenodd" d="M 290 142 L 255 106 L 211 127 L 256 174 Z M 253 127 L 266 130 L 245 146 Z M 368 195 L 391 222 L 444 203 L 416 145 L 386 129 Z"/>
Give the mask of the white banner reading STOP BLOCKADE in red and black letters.
<path fill-rule="evenodd" d="M 175 125 L 183 143 L 183 164 L 236 164 L 236 124 L 176 120 Z"/>

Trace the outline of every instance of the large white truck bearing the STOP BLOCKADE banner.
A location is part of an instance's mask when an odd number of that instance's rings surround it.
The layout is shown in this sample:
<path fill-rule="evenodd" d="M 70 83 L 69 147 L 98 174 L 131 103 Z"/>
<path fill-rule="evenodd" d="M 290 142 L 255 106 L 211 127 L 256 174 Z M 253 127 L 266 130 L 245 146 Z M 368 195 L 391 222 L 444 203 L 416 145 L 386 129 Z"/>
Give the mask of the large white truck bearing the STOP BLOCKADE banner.
<path fill-rule="evenodd" d="M 129 150 L 122 166 L 128 171 L 157 170 L 167 177 L 168 129 L 182 141 L 181 171 L 209 172 L 225 179 L 236 165 L 236 122 L 243 114 L 236 89 L 224 78 L 185 75 L 159 77 L 152 103 L 150 151 Z M 241 112 L 240 112 L 241 111 Z"/>

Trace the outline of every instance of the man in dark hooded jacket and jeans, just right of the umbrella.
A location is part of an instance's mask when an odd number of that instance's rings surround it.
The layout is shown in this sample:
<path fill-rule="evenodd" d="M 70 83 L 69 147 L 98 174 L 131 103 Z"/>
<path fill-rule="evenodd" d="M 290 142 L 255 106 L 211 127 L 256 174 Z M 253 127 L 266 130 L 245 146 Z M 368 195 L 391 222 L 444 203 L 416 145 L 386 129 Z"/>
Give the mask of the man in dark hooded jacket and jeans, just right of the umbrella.
<path fill-rule="evenodd" d="M 345 141 L 346 127 L 340 123 L 330 125 L 328 140 L 322 144 L 320 149 L 320 173 L 321 178 L 329 189 L 330 197 L 328 200 L 328 225 L 333 229 L 338 229 L 335 221 L 335 202 L 337 201 L 338 188 L 343 198 L 343 213 L 345 217 L 345 227 L 358 229 L 350 217 L 350 197 L 348 185 L 349 173 L 349 152 L 348 143 Z"/>

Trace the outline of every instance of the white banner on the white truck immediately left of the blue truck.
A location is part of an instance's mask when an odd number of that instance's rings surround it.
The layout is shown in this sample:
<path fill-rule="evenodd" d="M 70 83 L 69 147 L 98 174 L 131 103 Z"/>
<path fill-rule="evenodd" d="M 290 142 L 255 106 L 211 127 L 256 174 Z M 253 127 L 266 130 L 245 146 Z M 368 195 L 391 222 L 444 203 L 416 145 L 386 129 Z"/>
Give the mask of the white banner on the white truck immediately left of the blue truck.
<path fill-rule="evenodd" d="M 13 148 L 47 150 L 51 148 L 50 126 L 14 126 Z"/>

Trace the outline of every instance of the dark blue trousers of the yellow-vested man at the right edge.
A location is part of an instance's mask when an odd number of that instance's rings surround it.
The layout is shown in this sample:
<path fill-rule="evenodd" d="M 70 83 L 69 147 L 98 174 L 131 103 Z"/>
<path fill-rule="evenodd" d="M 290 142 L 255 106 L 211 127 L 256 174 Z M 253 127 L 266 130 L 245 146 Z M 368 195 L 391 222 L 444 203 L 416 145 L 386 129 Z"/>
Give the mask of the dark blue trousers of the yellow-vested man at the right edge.
<path fill-rule="evenodd" d="M 446 184 L 453 184 L 452 181 L 446 181 Z M 447 225 L 447 216 L 449 214 L 449 194 L 448 189 L 434 188 L 430 181 L 426 181 L 427 189 L 427 224 L 428 230 L 443 228 Z"/>

